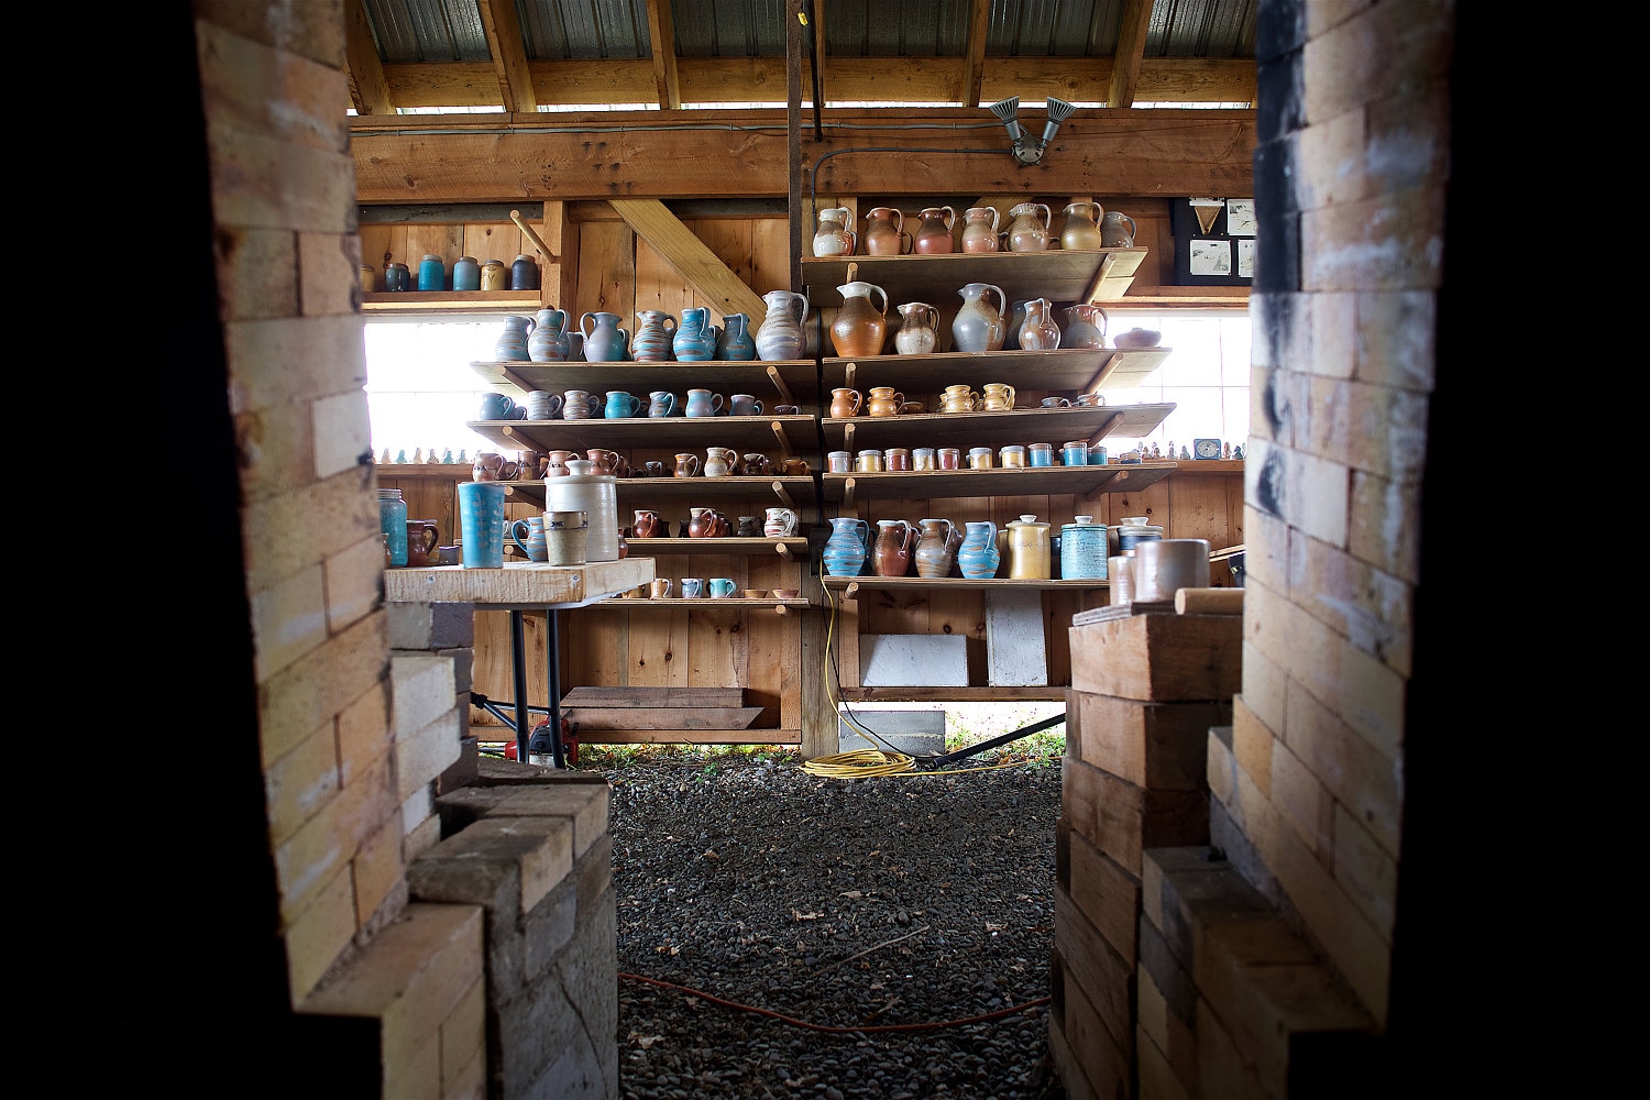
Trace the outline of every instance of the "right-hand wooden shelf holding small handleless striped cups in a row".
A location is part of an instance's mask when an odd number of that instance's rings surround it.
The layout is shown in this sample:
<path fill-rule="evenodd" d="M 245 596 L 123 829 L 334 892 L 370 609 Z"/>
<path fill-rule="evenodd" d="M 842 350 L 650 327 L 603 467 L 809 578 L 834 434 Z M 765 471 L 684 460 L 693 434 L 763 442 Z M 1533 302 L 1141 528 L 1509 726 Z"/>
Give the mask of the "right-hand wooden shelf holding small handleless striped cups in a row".
<path fill-rule="evenodd" d="M 1162 482 L 1181 463 L 1150 462 L 1104 467 L 1020 467 L 995 470 L 924 470 L 899 473 L 827 473 L 825 500 L 851 508 L 860 500 L 936 500 L 950 496 L 1072 495 L 1084 500 L 1104 493 L 1134 493 Z"/>

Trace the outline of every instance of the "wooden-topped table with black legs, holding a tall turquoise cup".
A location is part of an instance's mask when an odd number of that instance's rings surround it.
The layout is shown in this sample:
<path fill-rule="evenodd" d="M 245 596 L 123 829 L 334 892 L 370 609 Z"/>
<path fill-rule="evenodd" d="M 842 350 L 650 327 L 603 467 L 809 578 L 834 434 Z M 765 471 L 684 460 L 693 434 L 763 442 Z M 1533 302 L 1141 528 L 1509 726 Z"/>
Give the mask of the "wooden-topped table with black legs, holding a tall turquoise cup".
<path fill-rule="evenodd" d="M 561 744 L 561 684 L 558 675 L 556 612 L 584 607 L 653 579 L 652 557 L 592 561 L 582 566 L 548 566 L 512 561 L 502 569 L 432 566 L 427 569 L 386 569 L 384 599 L 393 604 L 474 604 L 477 610 L 510 612 L 510 671 L 515 681 L 516 760 L 526 764 L 533 736 L 526 706 L 526 645 L 521 613 L 546 612 L 549 650 L 549 737 L 556 767 L 566 767 Z"/>

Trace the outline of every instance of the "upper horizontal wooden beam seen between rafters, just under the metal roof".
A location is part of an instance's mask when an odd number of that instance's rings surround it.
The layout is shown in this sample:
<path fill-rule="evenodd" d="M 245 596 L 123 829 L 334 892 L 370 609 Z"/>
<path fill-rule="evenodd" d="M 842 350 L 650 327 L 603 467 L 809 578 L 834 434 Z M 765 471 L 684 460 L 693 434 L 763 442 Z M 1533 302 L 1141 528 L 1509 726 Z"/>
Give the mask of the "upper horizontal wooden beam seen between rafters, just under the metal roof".
<path fill-rule="evenodd" d="M 1058 96 L 1092 104 L 1104 97 L 1114 68 L 1110 58 L 982 58 L 978 87 L 969 91 L 959 87 L 955 58 L 832 58 L 830 101 L 959 104 L 967 94 L 974 102 L 962 102 L 964 107 L 1005 96 L 1031 102 Z M 530 61 L 528 69 L 540 106 L 599 107 L 658 99 L 653 63 L 645 58 Z M 386 64 L 383 71 L 394 107 L 502 106 L 498 76 L 488 61 Z M 1145 58 L 1137 79 L 1135 96 L 1147 102 L 1254 102 L 1254 61 L 1246 59 Z M 683 102 L 779 106 L 785 102 L 785 61 L 678 58 L 676 82 Z"/>

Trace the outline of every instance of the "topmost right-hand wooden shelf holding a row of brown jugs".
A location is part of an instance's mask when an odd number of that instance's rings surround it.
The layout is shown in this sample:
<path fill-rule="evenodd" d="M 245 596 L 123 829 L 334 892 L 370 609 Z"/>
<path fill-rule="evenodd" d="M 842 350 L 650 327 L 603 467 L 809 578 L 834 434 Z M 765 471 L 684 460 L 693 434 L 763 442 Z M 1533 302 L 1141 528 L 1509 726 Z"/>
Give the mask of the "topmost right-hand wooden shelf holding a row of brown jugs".
<path fill-rule="evenodd" d="M 1114 302 L 1124 297 L 1145 259 L 1127 249 L 1049 249 L 1046 252 L 947 252 L 944 256 L 802 257 L 802 282 L 813 308 L 842 305 L 837 287 L 863 280 L 888 292 L 889 312 L 906 302 L 932 302 L 936 287 L 955 294 L 970 282 L 1002 289 L 1010 302 Z M 853 266 L 853 274 L 848 272 Z M 939 302 L 932 302 L 940 305 Z"/>

